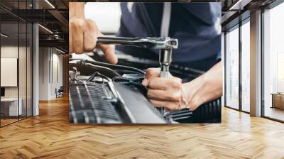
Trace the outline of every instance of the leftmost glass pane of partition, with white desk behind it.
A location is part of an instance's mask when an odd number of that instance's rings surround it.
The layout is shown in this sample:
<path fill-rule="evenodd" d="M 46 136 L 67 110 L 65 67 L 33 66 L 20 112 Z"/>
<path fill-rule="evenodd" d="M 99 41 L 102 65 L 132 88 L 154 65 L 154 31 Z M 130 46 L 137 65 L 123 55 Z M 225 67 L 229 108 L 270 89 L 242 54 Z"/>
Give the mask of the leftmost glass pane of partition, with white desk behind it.
<path fill-rule="evenodd" d="M 1 126 L 18 121 L 18 23 L 1 23 Z"/>

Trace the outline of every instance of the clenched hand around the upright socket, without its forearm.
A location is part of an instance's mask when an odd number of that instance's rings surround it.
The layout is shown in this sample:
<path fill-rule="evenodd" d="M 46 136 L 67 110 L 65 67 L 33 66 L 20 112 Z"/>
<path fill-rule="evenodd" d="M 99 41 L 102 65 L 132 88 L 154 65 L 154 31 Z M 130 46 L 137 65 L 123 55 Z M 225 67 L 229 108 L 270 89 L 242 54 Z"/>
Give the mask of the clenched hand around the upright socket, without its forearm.
<path fill-rule="evenodd" d="M 154 106 L 164 106 L 170 110 L 187 107 L 188 99 L 182 79 L 172 75 L 164 79 L 160 77 L 159 68 L 148 68 L 142 84 L 148 87 L 147 96 Z"/>

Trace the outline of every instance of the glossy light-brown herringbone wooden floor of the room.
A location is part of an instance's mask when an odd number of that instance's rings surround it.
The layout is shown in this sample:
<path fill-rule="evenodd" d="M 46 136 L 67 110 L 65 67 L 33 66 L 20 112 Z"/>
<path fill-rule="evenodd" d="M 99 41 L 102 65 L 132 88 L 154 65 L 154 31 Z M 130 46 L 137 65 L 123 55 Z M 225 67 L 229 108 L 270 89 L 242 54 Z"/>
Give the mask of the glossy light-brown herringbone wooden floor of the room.
<path fill-rule="evenodd" d="M 284 124 L 222 110 L 222 124 L 73 125 L 67 97 L 0 128 L 0 158 L 284 158 Z"/>

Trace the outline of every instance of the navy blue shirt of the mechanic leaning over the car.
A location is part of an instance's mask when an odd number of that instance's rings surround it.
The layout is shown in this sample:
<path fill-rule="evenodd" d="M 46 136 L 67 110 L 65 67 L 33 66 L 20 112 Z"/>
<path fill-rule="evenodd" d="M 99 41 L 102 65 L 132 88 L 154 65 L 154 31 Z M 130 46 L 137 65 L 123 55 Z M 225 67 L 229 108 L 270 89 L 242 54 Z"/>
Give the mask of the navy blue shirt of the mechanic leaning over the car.
<path fill-rule="evenodd" d="M 129 2 L 128 2 L 129 3 Z M 168 36 L 178 38 L 173 62 L 187 65 L 221 59 L 221 3 L 172 3 Z M 163 3 L 121 3 L 118 36 L 160 37 Z M 118 46 L 118 50 L 138 57 L 158 59 L 158 50 Z"/>

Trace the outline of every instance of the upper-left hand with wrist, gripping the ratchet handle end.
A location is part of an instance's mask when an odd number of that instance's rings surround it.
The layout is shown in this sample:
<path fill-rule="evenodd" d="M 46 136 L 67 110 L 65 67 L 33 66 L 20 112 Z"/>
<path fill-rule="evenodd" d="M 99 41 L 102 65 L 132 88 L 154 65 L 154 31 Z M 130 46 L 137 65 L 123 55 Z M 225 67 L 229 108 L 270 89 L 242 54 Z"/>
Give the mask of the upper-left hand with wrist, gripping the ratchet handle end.
<path fill-rule="evenodd" d="M 69 53 L 82 54 L 96 48 L 97 36 L 102 36 L 97 25 L 91 19 L 84 18 L 84 3 L 70 3 Z M 114 45 L 97 45 L 112 64 L 117 63 Z"/>

